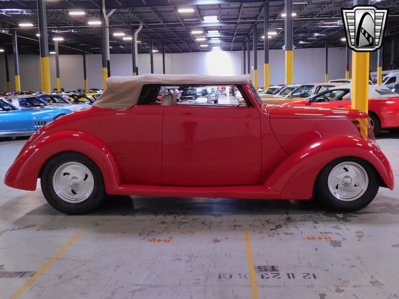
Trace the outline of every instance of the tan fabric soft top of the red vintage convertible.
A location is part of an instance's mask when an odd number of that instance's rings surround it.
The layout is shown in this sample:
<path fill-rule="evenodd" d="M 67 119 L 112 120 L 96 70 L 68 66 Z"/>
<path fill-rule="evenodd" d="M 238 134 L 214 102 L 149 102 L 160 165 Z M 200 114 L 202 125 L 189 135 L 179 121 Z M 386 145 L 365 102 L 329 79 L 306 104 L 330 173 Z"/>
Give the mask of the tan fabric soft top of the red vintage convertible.
<path fill-rule="evenodd" d="M 162 86 L 181 85 L 240 85 L 249 83 L 251 77 L 240 76 L 205 76 L 205 75 L 163 75 L 146 74 L 139 76 L 113 76 L 107 79 L 103 94 L 93 106 L 104 109 L 125 110 L 137 104 L 142 86 L 160 84 Z"/>

